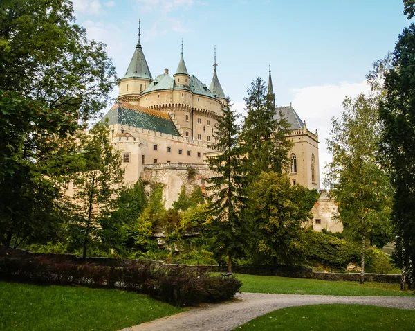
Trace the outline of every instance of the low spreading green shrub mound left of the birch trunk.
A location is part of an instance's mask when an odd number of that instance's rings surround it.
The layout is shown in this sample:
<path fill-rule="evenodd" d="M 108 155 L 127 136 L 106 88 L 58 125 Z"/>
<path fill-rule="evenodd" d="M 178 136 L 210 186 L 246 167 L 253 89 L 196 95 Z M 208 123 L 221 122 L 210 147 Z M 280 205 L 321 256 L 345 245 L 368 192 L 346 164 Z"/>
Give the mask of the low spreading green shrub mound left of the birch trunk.
<path fill-rule="evenodd" d="M 356 244 L 317 231 L 306 231 L 302 236 L 307 262 L 345 269 L 349 262 L 356 262 L 360 250 Z"/>

